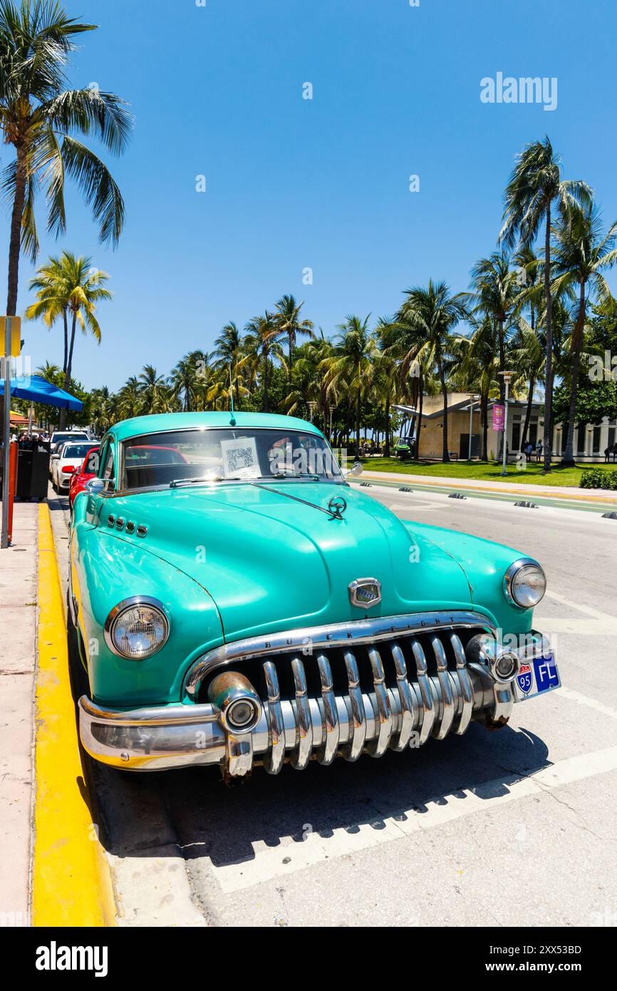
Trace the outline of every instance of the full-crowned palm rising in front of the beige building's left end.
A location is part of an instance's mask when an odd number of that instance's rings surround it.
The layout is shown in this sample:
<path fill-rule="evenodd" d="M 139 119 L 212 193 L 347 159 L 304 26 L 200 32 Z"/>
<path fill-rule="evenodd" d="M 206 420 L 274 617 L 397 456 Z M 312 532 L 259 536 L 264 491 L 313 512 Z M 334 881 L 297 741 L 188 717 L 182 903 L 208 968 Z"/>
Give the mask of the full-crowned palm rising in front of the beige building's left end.
<path fill-rule="evenodd" d="M 444 396 L 444 436 L 442 461 L 449 462 L 448 451 L 448 385 L 446 369 L 454 328 L 467 317 L 465 294 L 452 295 L 446 282 L 429 279 L 427 288 L 416 285 L 405 292 L 399 316 L 419 337 L 419 343 L 408 356 L 414 360 L 422 349 L 425 362 L 437 369 Z"/>

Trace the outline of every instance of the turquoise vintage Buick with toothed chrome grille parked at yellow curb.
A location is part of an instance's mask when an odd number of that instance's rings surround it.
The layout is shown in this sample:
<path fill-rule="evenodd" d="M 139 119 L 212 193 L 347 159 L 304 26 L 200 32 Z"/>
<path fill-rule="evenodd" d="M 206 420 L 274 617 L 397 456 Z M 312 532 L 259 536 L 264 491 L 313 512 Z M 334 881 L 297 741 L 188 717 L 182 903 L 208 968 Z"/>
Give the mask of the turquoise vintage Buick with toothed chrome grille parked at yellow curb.
<path fill-rule="evenodd" d="M 398 519 L 312 423 L 125 420 L 71 520 L 81 740 L 126 770 L 236 776 L 500 726 L 560 685 L 545 587 L 517 551 Z"/>

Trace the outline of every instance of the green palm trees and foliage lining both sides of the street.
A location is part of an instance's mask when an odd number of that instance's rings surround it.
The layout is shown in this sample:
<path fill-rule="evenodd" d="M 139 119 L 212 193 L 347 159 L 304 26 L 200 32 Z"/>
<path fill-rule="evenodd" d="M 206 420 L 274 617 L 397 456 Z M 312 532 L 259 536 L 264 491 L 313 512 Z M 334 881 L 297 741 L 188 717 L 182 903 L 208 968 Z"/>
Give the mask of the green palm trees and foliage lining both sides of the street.
<path fill-rule="evenodd" d="M 102 244 L 113 246 L 122 234 L 122 193 L 87 140 L 113 156 L 123 153 L 130 111 L 114 93 L 71 89 L 66 81 L 77 40 L 92 30 L 53 3 L 0 3 L 0 128 L 14 152 L 4 173 L 9 315 L 16 313 L 21 256 L 38 260 L 37 194 L 56 237 L 66 235 L 67 182 L 91 208 Z M 104 383 L 86 390 L 79 382 L 79 336 L 92 334 L 104 347 L 105 323 L 113 320 L 112 307 L 98 312 L 113 298 L 113 278 L 88 257 L 64 249 L 39 265 L 24 317 L 42 321 L 62 340 L 62 366 L 47 363 L 39 374 L 84 403 L 79 414 L 58 412 L 60 427 L 89 424 L 101 435 L 119 418 L 224 409 L 231 393 L 237 409 L 310 418 L 336 447 L 359 458 L 368 441 L 387 459 L 403 420 L 397 407 L 416 410 L 419 438 L 425 397 L 441 395 L 441 460 L 450 462 L 448 395 L 470 392 L 480 411 L 479 461 L 496 462 L 501 452 L 488 447 L 488 409 L 492 400 L 504 401 L 507 370 L 510 397 L 527 402 L 521 450 L 532 403 L 543 403 L 543 473 L 549 474 L 574 465 L 576 424 L 617 415 L 611 370 L 600 382 L 588 375 L 590 362 L 617 347 L 617 306 L 605 279 L 617 261 L 616 235 L 617 223 L 603 219 L 587 183 L 567 176 L 546 137 L 516 155 L 501 230 L 486 257 L 469 260 L 468 284 L 448 285 L 436 262 L 428 284 L 413 284 L 410 273 L 390 314 L 349 313 L 324 329 L 311 320 L 310 302 L 291 292 L 256 300 L 257 307 L 265 304 L 257 315 L 240 323 L 230 312 L 220 328 L 206 322 L 194 349 L 178 355 L 173 368 L 127 369 L 117 391 Z M 49 408 L 36 413 L 54 425 Z M 565 438 L 560 460 L 551 450 L 557 422 Z"/>

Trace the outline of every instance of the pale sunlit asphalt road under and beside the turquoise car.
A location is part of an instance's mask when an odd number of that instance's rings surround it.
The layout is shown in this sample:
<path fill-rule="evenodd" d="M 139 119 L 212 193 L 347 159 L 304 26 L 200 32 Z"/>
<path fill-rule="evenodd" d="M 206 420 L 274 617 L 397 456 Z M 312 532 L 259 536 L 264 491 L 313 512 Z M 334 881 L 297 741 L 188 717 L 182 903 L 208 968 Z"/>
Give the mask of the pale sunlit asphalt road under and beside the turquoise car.
<path fill-rule="evenodd" d="M 536 625 L 564 687 L 508 726 L 356 764 L 96 768 L 127 926 L 616 926 L 617 521 L 446 495 L 368 495 L 545 566 Z M 65 547 L 65 499 L 51 493 Z M 64 555 L 60 553 L 60 558 Z"/>

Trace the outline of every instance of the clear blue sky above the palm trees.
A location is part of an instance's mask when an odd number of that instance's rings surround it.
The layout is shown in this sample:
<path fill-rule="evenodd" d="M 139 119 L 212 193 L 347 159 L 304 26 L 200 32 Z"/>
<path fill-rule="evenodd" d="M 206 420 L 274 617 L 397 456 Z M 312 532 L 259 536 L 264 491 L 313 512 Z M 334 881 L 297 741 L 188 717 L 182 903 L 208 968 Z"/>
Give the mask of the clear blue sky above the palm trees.
<path fill-rule="evenodd" d="M 77 341 L 87 387 L 116 389 L 146 363 L 167 374 L 285 292 L 333 333 L 348 313 L 391 313 L 430 276 L 466 288 L 495 247 L 515 154 L 545 134 L 565 177 L 617 217 L 614 0 L 65 3 L 100 25 L 71 79 L 114 90 L 136 116 L 112 163 L 127 206 L 118 250 L 98 245 L 72 194 L 66 237 L 42 238 L 44 258 L 66 247 L 111 275 L 101 346 Z M 480 79 L 498 71 L 557 77 L 557 109 L 482 103 Z M 20 309 L 31 275 L 23 261 Z M 34 366 L 61 364 L 59 328 L 22 336 Z"/>

